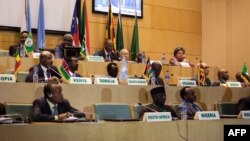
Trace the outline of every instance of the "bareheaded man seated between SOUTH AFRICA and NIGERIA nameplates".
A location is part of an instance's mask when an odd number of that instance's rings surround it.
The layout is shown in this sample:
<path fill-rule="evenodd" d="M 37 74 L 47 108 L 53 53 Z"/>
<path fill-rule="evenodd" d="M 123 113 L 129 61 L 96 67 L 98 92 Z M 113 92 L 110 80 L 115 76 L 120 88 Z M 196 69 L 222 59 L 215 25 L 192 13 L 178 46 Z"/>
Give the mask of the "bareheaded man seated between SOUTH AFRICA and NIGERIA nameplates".
<path fill-rule="evenodd" d="M 177 110 L 178 118 L 181 118 L 182 106 L 187 108 L 187 118 L 193 118 L 196 112 L 202 111 L 201 106 L 195 102 L 196 95 L 193 88 L 190 86 L 183 87 L 180 91 L 180 96 L 183 102 Z"/>

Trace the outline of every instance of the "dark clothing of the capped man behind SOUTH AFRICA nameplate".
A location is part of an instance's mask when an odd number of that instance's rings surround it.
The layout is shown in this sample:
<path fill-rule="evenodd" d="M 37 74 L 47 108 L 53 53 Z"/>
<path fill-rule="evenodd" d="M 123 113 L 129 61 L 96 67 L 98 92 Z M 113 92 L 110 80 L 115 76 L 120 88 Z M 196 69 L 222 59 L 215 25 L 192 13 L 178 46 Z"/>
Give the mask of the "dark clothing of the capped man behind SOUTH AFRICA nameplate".
<path fill-rule="evenodd" d="M 149 104 L 149 105 L 147 105 L 147 107 L 149 107 L 157 112 L 170 112 L 172 117 L 177 117 L 175 111 L 169 105 L 164 105 L 163 107 L 158 107 L 155 104 Z M 143 115 L 146 112 L 154 112 L 154 111 L 150 110 L 149 108 L 143 107 L 143 109 L 141 110 L 141 112 L 139 114 L 139 119 L 142 120 Z"/>

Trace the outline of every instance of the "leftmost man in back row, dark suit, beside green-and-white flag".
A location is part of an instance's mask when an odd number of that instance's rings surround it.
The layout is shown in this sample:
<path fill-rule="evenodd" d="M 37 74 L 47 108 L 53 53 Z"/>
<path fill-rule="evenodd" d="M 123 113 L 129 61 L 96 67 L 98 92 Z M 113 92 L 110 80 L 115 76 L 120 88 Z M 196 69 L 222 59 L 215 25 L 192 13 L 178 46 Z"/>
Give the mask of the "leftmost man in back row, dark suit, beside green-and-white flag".
<path fill-rule="evenodd" d="M 19 43 L 9 47 L 9 55 L 10 56 L 16 57 L 16 52 L 20 51 L 20 56 L 21 57 L 28 57 L 28 55 L 26 54 L 26 51 L 25 51 L 25 47 L 24 47 L 24 43 L 25 43 L 25 40 L 28 37 L 28 34 L 29 34 L 28 31 L 22 31 L 20 33 Z"/>

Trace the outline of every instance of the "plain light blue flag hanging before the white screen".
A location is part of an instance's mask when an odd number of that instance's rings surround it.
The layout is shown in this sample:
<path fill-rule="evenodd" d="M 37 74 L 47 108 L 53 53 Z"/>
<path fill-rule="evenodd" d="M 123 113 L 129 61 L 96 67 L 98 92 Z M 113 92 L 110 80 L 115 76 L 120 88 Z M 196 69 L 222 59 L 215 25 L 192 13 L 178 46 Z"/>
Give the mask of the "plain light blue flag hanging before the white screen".
<path fill-rule="evenodd" d="M 41 48 L 45 48 L 45 21 L 44 21 L 43 0 L 40 0 L 39 4 L 36 49 L 41 49 Z"/>

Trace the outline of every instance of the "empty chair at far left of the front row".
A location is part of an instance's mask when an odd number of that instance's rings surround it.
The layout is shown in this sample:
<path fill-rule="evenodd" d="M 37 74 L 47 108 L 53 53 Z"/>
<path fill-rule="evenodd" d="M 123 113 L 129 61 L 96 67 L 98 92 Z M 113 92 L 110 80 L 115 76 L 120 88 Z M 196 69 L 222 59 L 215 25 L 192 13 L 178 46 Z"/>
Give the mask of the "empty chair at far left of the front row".
<path fill-rule="evenodd" d="M 22 122 L 29 122 L 32 104 L 5 102 L 4 106 L 6 115 L 17 118 Z"/>

